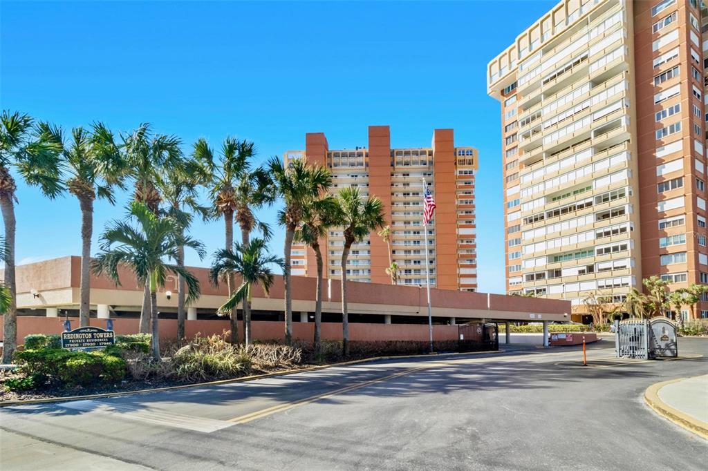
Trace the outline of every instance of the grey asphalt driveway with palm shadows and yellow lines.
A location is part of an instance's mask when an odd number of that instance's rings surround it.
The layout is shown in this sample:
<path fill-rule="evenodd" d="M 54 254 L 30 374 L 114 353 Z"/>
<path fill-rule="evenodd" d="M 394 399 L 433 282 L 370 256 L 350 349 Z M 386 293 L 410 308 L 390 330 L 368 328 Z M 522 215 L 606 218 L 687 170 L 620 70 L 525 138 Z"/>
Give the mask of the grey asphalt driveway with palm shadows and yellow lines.
<path fill-rule="evenodd" d="M 692 358 L 679 361 L 615 361 L 608 347 L 588 367 L 577 348 L 522 347 L 4 407 L 0 467 L 38 469 L 44 453 L 47 470 L 705 470 L 708 443 L 642 397 L 708 371 L 708 339 L 681 339 Z"/>

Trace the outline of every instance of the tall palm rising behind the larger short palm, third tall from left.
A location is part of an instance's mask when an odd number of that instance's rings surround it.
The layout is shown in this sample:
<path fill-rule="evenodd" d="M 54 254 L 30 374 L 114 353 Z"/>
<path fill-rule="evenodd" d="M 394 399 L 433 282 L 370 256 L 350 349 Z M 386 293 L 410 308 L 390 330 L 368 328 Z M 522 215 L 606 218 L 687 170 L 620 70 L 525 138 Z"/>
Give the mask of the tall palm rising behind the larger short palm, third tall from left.
<path fill-rule="evenodd" d="M 122 156 L 130 177 L 135 180 L 133 199 L 145 204 L 157 214 L 161 200 L 156 180 L 159 174 L 169 171 L 182 160 L 182 142 L 174 135 L 154 134 L 148 123 L 142 123 L 129 134 L 121 136 Z M 140 311 L 140 332 L 149 330 L 150 291 L 147 280 L 138 280 L 144 284 L 145 291 Z"/>

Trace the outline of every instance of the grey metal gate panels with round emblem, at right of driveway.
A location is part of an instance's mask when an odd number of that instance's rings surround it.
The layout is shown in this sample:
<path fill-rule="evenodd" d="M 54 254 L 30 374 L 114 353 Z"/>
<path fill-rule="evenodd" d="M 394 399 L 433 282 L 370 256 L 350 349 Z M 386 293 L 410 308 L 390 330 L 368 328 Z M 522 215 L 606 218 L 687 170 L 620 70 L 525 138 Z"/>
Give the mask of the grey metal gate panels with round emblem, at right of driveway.
<path fill-rule="evenodd" d="M 676 326 L 670 320 L 628 319 L 616 325 L 617 357 L 654 359 L 678 356 Z"/>

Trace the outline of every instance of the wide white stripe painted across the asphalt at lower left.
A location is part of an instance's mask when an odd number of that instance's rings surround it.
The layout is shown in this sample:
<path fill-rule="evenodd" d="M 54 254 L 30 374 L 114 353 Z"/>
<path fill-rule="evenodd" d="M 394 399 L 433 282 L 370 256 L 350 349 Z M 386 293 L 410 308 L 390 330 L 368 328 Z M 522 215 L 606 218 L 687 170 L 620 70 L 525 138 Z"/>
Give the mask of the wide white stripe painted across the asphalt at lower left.
<path fill-rule="evenodd" d="M 146 424 L 174 427 L 176 429 L 199 431 L 205 434 L 210 434 L 214 431 L 226 429 L 227 427 L 234 425 L 231 422 L 223 420 L 205 419 L 203 417 L 173 414 L 171 412 L 150 409 L 149 407 L 113 404 L 94 400 L 62 402 L 57 405 L 59 407 L 66 407 L 67 409 L 115 415 L 121 419 L 135 420 Z"/>

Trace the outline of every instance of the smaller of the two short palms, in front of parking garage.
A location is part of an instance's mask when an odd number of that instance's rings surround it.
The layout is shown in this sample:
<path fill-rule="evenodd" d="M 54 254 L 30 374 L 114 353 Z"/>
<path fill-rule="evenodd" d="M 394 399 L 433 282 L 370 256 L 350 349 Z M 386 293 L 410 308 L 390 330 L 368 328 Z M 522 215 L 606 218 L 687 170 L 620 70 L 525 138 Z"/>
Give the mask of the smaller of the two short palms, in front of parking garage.
<path fill-rule="evenodd" d="M 276 264 L 282 268 L 282 258 L 268 254 L 265 240 L 255 238 L 246 244 L 234 244 L 234 250 L 219 250 L 214 257 L 214 264 L 209 277 L 214 284 L 219 280 L 229 279 L 234 273 L 241 275 L 241 286 L 229 296 L 229 299 L 219 308 L 219 312 L 231 313 L 242 301 L 251 303 L 253 300 L 253 285 L 260 284 L 267 295 L 273 286 L 273 271 L 268 267 Z M 244 342 L 251 344 L 251 325 L 244 326 Z"/>

